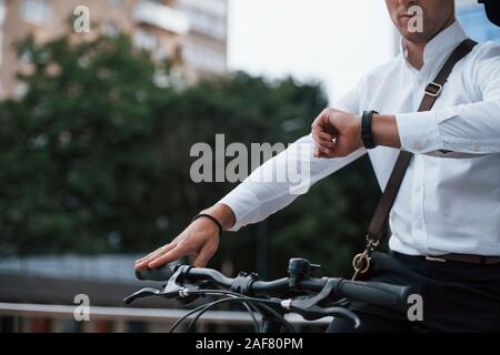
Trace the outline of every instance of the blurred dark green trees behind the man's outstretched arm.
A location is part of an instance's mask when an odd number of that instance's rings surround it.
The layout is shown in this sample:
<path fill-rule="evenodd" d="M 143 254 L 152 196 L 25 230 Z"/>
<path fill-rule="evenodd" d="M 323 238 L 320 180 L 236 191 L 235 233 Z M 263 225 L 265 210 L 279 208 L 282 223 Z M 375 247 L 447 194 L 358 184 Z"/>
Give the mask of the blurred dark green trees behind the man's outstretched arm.
<path fill-rule="evenodd" d="M 177 85 L 169 63 L 124 37 L 27 39 L 27 92 L 0 104 L 0 253 L 141 253 L 174 237 L 234 184 L 194 183 L 197 142 L 292 142 L 327 100 L 317 83 L 246 73 Z M 346 272 L 363 244 L 376 182 L 366 159 L 268 224 L 272 275 L 291 256 Z M 212 266 L 254 268 L 254 227 L 224 236 Z"/>

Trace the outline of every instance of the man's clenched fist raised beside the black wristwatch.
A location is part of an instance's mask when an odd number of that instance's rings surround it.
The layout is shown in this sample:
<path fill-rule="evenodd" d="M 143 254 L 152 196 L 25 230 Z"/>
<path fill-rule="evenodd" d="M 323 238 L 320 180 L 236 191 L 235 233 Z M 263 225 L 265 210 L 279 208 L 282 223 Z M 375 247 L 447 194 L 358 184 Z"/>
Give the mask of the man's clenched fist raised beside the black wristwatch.
<path fill-rule="evenodd" d="M 347 156 L 363 146 L 359 115 L 326 109 L 311 128 L 316 158 Z"/>

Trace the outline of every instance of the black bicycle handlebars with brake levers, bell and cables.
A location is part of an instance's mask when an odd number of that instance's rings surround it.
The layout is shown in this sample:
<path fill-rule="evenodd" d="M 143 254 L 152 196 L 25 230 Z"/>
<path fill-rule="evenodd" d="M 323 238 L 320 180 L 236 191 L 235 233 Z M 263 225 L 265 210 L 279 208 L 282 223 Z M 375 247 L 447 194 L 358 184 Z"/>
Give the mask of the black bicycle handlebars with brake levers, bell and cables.
<path fill-rule="evenodd" d="M 259 281 L 256 273 L 241 272 L 230 278 L 211 268 L 188 265 L 162 266 L 156 270 L 137 271 L 136 276 L 143 281 L 167 282 L 160 290 L 142 288 L 123 302 L 137 298 L 160 296 L 176 298 L 181 304 L 190 304 L 200 296 L 217 296 L 219 300 L 202 304 L 179 318 L 170 332 L 188 317 L 193 316 L 189 331 L 207 311 L 222 303 L 240 303 L 249 312 L 257 333 L 296 333 L 284 318 L 287 313 L 300 314 L 313 321 L 326 316 L 340 317 L 360 325 L 359 317 L 347 308 L 349 300 L 359 300 L 387 307 L 408 306 L 409 286 L 380 282 L 360 282 L 344 278 L 313 277 L 312 272 L 320 266 L 304 258 L 291 258 L 288 276 L 274 281 Z M 261 323 L 256 317 L 261 314 Z"/>

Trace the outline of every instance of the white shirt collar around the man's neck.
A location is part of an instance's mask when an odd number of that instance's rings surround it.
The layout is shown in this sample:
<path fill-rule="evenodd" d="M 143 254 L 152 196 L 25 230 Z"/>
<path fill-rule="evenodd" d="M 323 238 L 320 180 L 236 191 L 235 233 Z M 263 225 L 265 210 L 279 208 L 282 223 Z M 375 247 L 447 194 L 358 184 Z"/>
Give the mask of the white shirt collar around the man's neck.
<path fill-rule="evenodd" d="M 451 52 L 452 49 L 467 38 L 460 22 L 454 21 L 450 27 L 439 32 L 429 43 L 427 43 L 426 49 L 423 50 L 423 64 L 426 65 L 427 63 L 432 62 L 433 59 L 441 57 L 440 54 L 442 53 Z M 408 50 L 404 47 L 402 37 L 400 40 L 400 50 L 408 63 Z M 408 64 L 410 65 L 410 63 Z"/>

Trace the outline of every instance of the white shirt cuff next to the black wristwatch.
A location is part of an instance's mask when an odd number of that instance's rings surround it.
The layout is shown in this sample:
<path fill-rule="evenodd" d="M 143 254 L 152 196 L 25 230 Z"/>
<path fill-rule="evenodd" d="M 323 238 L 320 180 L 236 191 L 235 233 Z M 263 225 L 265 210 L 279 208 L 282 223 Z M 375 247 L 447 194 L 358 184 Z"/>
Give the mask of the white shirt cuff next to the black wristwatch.
<path fill-rule="evenodd" d="M 401 113 L 396 115 L 401 149 L 414 154 L 429 153 L 443 148 L 439 124 L 456 113 L 451 110 Z"/>

